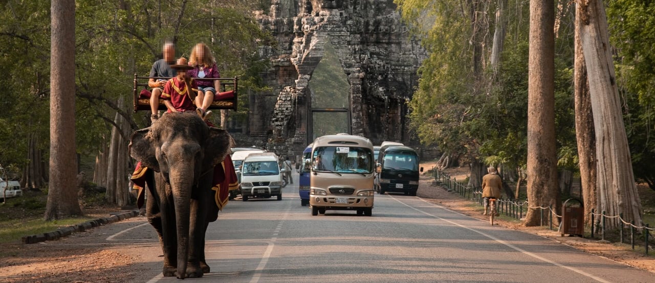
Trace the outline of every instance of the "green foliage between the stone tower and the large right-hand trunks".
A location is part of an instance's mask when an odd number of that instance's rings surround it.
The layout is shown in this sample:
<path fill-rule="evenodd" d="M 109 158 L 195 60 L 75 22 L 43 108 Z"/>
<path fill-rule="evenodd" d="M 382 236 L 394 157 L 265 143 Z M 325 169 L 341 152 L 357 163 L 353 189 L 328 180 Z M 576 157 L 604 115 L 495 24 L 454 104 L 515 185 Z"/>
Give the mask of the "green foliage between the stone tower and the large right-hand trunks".
<path fill-rule="evenodd" d="M 423 61 L 419 89 L 409 103 L 410 123 L 423 144 L 438 146 L 462 161 L 482 159 L 513 167 L 527 160 L 528 32 L 529 7 L 525 1 L 509 1 L 504 50 L 496 74 L 487 67 L 474 73 L 475 39 L 470 5 L 455 1 L 397 0 L 403 19 L 430 52 Z M 487 3 L 487 2 L 485 2 Z M 495 10 L 478 5 L 474 8 Z M 481 11 L 478 11 L 481 12 Z M 490 19 L 493 34 L 495 27 Z M 563 15 L 556 41 L 555 125 L 561 164 L 576 160 L 572 99 L 572 17 Z M 491 50 L 491 39 L 483 39 Z M 483 54 L 488 58 L 489 54 Z M 484 64 L 483 64 L 484 65 Z M 572 155 L 571 155 L 572 154 Z"/>

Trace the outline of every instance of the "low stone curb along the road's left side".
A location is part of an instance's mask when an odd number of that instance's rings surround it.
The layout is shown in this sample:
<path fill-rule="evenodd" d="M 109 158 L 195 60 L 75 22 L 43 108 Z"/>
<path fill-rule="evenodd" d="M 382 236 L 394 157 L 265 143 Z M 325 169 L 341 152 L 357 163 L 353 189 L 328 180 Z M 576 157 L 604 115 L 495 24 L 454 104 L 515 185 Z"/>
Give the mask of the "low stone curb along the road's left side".
<path fill-rule="evenodd" d="M 113 222 L 119 222 L 121 220 L 126 220 L 127 218 L 132 218 L 132 217 L 138 216 L 138 215 L 139 215 L 139 210 L 129 210 L 127 212 L 117 212 L 117 213 L 112 214 L 109 217 L 98 218 L 98 219 L 94 219 L 94 220 L 88 220 L 87 222 L 72 225 L 72 226 L 68 226 L 68 227 L 62 227 L 62 228 L 56 229 L 55 231 L 24 236 L 24 237 L 22 237 L 22 242 L 23 242 L 23 244 L 34 244 L 34 243 L 37 243 L 37 242 L 52 241 L 52 240 L 60 239 L 62 237 L 66 237 L 68 235 L 71 235 L 73 232 L 83 232 L 83 231 L 86 231 L 86 230 L 91 229 L 93 227 L 98 227 L 100 225 L 110 224 L 110 223 L 113 223 Z"/>

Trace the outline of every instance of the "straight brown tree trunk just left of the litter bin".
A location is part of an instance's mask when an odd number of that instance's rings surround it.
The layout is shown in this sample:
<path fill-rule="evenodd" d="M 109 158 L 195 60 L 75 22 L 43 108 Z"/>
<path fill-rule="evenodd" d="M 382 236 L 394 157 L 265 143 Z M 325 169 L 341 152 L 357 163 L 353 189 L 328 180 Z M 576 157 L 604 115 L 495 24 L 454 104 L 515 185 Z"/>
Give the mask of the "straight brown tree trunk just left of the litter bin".
<path fill-rule="evenodd" d="M 527 185 L 530 207 L 550 206 L 557 212 L 561 202 L 555 155 L 554 18 L 552 1 L 530 1 Z M 540 225 L 538 208 L 528 210 L 525 225 Z"/>

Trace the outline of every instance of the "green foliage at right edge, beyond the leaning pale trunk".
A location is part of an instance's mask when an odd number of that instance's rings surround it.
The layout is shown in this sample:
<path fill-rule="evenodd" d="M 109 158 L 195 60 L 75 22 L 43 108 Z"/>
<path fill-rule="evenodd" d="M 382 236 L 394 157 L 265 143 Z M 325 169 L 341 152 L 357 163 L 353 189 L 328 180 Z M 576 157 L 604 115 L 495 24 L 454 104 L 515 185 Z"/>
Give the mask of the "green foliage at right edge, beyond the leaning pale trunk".
<path fill-rule="evenodd" d="M 607 16 L 633 171 L 655 190 L 655 3 L 610 1 Z"/>

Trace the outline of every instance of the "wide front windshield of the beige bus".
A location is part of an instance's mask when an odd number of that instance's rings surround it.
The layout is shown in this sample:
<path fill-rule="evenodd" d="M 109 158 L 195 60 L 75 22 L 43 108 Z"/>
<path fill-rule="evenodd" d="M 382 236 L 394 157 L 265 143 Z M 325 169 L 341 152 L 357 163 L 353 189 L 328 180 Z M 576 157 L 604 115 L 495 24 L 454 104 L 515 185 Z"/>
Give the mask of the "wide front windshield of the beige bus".
<path fill-rule="evenodd" d="M 356 146 L 320 146 L 314 149 L 314 171 L 373 173 L 373 152 Z"/>

